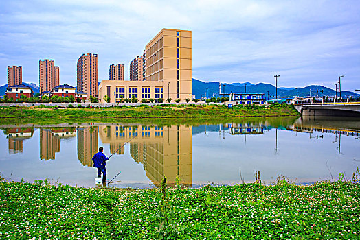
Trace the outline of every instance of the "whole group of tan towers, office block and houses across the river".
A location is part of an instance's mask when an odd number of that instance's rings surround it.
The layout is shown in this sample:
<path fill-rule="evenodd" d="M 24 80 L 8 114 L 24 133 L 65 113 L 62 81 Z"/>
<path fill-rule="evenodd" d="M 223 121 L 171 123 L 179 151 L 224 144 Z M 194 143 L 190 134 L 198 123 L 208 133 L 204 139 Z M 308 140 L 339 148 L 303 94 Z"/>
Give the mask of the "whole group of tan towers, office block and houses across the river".
<path fill-rule="evenodd" d="M 142 56 L 130 64 L 130 81 L 125 80 L 124 64 L 111 64 L 109 80 L 98 88 L 98 54 L 84 53 L 77 62 L 76 87 L 60 84 L 60 67 L 55 60 L 39 60 L 40 97 L 70 97 L 89 100 L 98 97 L 100 102 L 122 102 L 161 99 L 192 99 L 192 33 L 177 29 L 162 29 L 146 45 Z M 8 66 L 9 98 L 21 95 L 32 97 L 32 88 L 23 84 L 21 66 Z"/>

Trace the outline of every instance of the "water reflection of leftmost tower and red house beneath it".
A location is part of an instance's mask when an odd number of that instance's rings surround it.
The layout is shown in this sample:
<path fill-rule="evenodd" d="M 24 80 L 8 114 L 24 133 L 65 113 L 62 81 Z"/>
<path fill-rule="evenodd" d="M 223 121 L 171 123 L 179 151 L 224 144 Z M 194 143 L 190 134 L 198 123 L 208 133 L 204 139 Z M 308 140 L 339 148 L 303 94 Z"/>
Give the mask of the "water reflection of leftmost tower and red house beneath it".
<path fill-rule="evenodd" d="M 34 128 L 6 128 L 5 134 L 8 135 L 9 154 L 23 152 L 23 141 L 32 138 Z"/>

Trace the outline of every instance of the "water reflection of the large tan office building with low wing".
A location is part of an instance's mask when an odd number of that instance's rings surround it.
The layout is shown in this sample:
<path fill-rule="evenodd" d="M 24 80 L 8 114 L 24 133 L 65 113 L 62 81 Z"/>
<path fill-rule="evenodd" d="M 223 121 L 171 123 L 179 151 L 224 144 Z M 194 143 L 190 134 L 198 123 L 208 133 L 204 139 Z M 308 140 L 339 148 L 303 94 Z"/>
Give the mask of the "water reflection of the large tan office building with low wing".
<path fill-rule="evenodd" d="M 112 125 L 100 127 L 102 143 L 110 144 L 111 154 L 130 142 L 130 154 L 135 162 L 142 164 L 146 176 L 158 186 L 161 178 L 168 178 L 168 185 L 192 184 L 192 127 L 157 125 Z M 124 154 L 124 147 L 117 152 Z"/>

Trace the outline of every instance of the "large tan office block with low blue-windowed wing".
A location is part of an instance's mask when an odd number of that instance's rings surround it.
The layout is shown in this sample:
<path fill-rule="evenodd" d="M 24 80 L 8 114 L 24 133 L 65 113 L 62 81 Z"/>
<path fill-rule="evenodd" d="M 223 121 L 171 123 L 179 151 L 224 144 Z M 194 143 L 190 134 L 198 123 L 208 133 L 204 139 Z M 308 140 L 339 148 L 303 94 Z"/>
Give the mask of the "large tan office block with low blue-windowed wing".
<path fill-rule="evenodd" d="M 122 98 L 191 99 L 192 97 L 192 33 L 177 29 L 162 29 L 146 45 L 146 81 L 102 81 L 99 99 L 110 97 L 111 103 Z M 136 58 L 135 58 L 136 59 Z"/>

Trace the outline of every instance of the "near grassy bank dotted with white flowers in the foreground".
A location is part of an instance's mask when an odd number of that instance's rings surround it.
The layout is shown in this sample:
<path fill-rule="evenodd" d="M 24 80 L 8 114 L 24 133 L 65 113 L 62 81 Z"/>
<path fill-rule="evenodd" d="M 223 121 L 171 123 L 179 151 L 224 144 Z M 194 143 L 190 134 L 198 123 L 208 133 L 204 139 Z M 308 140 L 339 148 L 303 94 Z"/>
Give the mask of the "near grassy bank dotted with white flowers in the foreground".
<path fill-rule="evenodd" d="M 114 191 L 0 182 L 0 239 L 359 239 L 360 187 Z"/>

